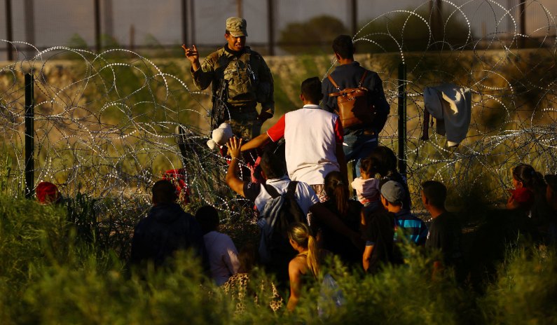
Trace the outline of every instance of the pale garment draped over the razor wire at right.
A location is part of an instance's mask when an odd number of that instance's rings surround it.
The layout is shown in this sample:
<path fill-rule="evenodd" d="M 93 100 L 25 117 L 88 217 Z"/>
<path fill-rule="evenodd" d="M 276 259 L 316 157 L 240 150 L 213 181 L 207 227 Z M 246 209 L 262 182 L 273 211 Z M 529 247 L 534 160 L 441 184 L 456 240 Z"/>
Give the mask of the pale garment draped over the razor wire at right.
<path fill-rule="evenodd" d="M 465 139 L 470 125 L 472 92 L 469 88 L 452 83 L 426 87 L 424 105 L 436 119 L 436 133 L 446 134 L 447 146 L 458 146 Z"/>

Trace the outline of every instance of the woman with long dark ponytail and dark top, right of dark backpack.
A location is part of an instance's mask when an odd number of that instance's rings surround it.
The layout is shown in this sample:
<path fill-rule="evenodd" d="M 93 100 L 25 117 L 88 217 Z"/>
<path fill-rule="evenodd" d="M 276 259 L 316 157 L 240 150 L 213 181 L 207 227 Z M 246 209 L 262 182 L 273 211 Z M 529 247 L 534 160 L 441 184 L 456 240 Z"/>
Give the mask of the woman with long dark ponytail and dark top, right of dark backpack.
<path fill-rule="evenodd" d="M 324 207 L 329 209 L 347 228 L 359 233 L 362 204 L 349 199 L 348 184 L 343 181 L 342 174 L 330 172 L 325 177 L 324 186 L 325 193 L 329 198 L 324 202 Z M 319 247 L 337 255 L 345 263 L 362 264 L 364 247 L 356 247 L 350 238 L 324 223 L 317 224 L 317 228 L 319 229 Z"/>

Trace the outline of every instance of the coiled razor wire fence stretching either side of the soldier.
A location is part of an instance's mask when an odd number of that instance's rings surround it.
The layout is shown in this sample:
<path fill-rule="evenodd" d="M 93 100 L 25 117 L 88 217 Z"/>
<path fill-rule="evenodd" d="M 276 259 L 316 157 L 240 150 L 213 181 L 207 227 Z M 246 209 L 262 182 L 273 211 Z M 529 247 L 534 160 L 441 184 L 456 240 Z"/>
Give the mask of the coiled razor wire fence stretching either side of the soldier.
<path fill-rule="evenodd" d="M 506 195 L 509 168 L 518 163 L 529 163 L 542 173 L 557 172 L 553 15 L 539 2 L 528 2 L 544 11 L 547 21 L 537 30 L 545 33 L 537 36 L 541 41 L 525 50 L 518 44 L 530 36 L 518 33 L 513 14 L 497 1 L 488 1 L 497 26 L 510 17 L 514 27 L 481 38 L 474 37 L 471 19 L 462 7 L 485 1 L 442 2 L 440 34 L 436 34 L 439 24 L 432 25 L 432 14 L 424 11 L 426 1 L 413 11 L 380 15 L 354 36 L 357 46 L 375 52 L 394 46 L 397 61 L 406 65 L 406 163 L 414 202 L 419 200 L 421 182 L 427 179 L 439 179 L 458 193 L 484 188 L 486 198 L 496 200 Z M 455 22 L 464 31 L 456 40 L 449 33 Z M 378 30 L 378 26 L 385 28 Z M 427 36 L 421 50 L 407 46 L 406 34 L 415 29 L 423 29 Z M 34 48 L 25 42 L 2 42 L 15 50 L 25 48 L 25 53 Z M 373 66 L 373 57 L 369 60 Z M 396 149 L 396 71 L 376 70 L 383 78 L 392 112 L 380 142 Z M 224 158 L 205 144 L 209 130 L 199 125 L 207 123 L 211 96 L 192 90 L 149 58 L 123 49 L 93 53 L 64 46 L 35 48 L 32 57 L 1 67 L 3 191 L 16 188 L 12 193 L 17 195 L 24 186 L 25 73 L 34 75 L 36 184 L 52 181 L 67 196 L 81 191 L 100 198 L 133 196 L 149 202 L 149 188 L 165 170 L 186 167 L 192 201 L 232 214 L 238 213 L 238 206 L 249 206 L 224 185 Z M 441 83 L 472 91 L 467 137 L 456 148 L 448 148 L 446 138 L 432 131 L 429 141 L 421 139 L 423 124 L 429 123 L 423 118 L 423 90 Z M 182 157 L 177 146 L 179 125 L 186 130 L 187 157 Z"/>

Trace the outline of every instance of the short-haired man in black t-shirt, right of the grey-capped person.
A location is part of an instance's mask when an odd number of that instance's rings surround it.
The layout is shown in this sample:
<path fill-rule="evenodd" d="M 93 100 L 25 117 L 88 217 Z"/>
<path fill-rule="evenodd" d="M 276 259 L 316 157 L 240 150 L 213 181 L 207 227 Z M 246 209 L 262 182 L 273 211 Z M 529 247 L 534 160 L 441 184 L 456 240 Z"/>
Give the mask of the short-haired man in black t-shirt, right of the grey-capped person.
<path fill-rule="evenodd" d="M 441 260 L 434 261 L 433 277 L 448 266 L 454 267 L 459 273 L 462 269 L 462 228 L 456 217 L 445 209 L 447 189 L 439 181 L 425 181 L 421 193 L 422 203 L 433 219 L 425 247 L 430 250 L 439 249 L 442 255 Z"/>

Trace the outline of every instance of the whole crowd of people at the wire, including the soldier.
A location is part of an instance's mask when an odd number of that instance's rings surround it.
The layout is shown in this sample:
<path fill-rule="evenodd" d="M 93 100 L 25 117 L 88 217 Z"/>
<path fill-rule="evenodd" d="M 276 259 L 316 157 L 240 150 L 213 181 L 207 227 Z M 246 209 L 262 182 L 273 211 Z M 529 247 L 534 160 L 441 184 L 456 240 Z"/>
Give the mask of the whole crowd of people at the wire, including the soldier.
<path fill-rule="evenodd" d="M 455 214 L 446 210 L 446 186 L 439 181 L 421 184 L 429 227 L 412 214 L 411 193 L 397 171 L 397 156 L 378 141 L 390 112 L 382 82 L 354 60 L 350 36 L 333 41 L 339 65 L 331 78 L 303 81 L 302 108 L 284 114 L 260 134 L 261 124 L 274 112 L 273 77 L 263 57 L 245 46 L 246 26 L 242 18 L 229 18 L 226 45 L 202 64 L 195 46 L 184 50 L 195 85 L 200 89 L 212 85 L 214 125 L 231 122 L 235 137 L 223 150 L 229 164 L 225 181 L 253 202 L 261 235 L 238 253 L 231 237 L 219 233 L 214 207 L 201 207 L 195 216 L 184 212 L 176 202 L 174 184 L 161 180 L 153 186 L 151 212 L 135 228 L 132 263 L 162 267 L 175 251 L 191 249 L 216 285 L 243 297 L 248 296 L 250 272 L 259 265 L 273 275 L 268 284 L 273 289 L 269 304 L 273 310 L 283 305 L 281 293 L 287 289 L 286 307 L 294 310 L 303 286 L 319 277 L 324 256 L 338 256 L 352 270 L 373 275 L 385 265 L 404 263 L 399 243 L 405 242 L 441 252 L 432 265 L 432 277 L 447 268 L 463 270 L 462 228 Z M 366 89 L 373 120 L 343 125 L 338 100 L 329 94 L 345 88 Z M 256 111 L 258 102 L 261 113 Z M 219 111 L 221 105 L 228 113 Z M 260 172 L 242 179 L 246 153 L 260 156 L 260 169 L 254 169 Z M 355 165 L 352 180 L 347 161 Z M 557 177 L 544 178 L 524 164 L 512 175 L 514 189 L 507 209 L 536 221 L 555 240 Z"/>

